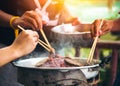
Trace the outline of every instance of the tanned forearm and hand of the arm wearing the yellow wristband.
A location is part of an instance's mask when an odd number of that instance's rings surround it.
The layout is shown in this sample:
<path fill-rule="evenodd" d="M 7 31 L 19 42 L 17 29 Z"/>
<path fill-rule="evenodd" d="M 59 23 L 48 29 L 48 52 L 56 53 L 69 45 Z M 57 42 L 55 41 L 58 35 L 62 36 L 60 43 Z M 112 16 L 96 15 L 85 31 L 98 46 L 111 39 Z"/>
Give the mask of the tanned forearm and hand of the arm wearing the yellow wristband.
<path fill-rule="evenodd" d="M 0 26 L 10 27 L 12 17 L 14 16 L 0 10 Z M 39 30 L 42 26 L 42 18 L 36 11 L 26 11 L 22 16 L 14 19 L 11 24 L 15 28 L 17 28 L 17 25 L 21 25 L 24 28 Z"/>

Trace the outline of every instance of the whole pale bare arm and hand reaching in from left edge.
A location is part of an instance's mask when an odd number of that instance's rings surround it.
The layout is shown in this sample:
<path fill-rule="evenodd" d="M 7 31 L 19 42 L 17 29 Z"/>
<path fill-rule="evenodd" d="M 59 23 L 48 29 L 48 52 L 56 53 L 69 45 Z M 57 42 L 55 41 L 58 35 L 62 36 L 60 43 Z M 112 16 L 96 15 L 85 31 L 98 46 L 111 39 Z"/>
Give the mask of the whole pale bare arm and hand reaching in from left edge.
<path fill-rule="evenodd" d="M 12 45 L 0 49 L 0 67 L 31 53 L 37 45 L 38 38 L 39 36 L 35 31 L 21 32 Z"/>

